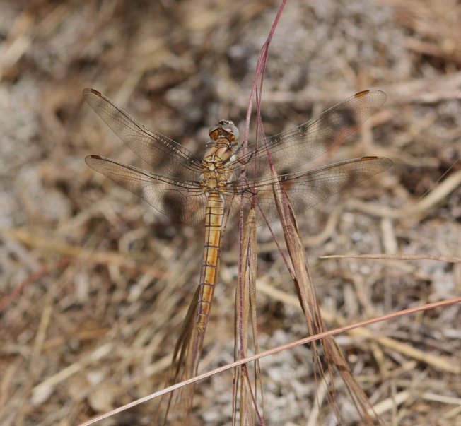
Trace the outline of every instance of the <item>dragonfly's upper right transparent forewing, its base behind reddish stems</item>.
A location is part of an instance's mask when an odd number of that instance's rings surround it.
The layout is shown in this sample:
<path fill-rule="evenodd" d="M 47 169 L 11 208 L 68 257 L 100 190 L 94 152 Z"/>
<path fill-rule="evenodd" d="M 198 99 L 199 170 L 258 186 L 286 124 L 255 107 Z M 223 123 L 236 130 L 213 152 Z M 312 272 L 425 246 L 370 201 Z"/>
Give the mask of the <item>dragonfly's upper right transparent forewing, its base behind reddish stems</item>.
<path fill-rule="evenodd" d="M 252 179 L 255 167 L 257 167 L 257 177 L 269 176 L 267 150 L 278 174 L 296 171 L 295 167 L 314 160 L 356 131 L 358 126 L 374 114 L 385 100 L 386 95 L 380 90 L 356 93 L 309 122 L 261 141 L 257 155 L 255 144 L 249 146 L 245 158 L 240 159 L 240 163 L 247 163 L 247 178 Z M 256 164 L 255 158 L 257 158 Z M 240 163 L 235 165 L 237 176 Z"/>

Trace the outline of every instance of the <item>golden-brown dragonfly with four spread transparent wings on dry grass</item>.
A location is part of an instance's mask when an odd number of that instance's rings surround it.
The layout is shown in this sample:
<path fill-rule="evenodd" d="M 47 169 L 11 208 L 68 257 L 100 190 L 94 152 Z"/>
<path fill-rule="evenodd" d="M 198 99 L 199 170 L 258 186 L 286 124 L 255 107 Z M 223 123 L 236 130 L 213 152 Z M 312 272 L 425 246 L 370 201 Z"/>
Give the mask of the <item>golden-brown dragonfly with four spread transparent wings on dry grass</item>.
<path fill-rule="evenodd" d="M 356 93 L 294 129 L 248 144 L 246 150 L 238 144 L 237 127 L 223 119 L 209 130 L 203 159 L 148 129 L 98 90 L 85 89 L 83 97 L 153 172 L 100 155 L 89 155 L 86 164 L 170 219 L 205 228 L 195 317 L 199 335 L 209 318 L 226 214 L 238 218 L 240 209 L 247 213 L 256 199 L 257 225 L 269 223 L 278 217 L 274 184 L 281 184 L 293 211 L 300 213 L 392 165 L 388 158 L 368 156 L 293 172 L 356 131 L 385 102 L 380 90 Z M 269 158 L 278 174 L 271 172 Z"/>

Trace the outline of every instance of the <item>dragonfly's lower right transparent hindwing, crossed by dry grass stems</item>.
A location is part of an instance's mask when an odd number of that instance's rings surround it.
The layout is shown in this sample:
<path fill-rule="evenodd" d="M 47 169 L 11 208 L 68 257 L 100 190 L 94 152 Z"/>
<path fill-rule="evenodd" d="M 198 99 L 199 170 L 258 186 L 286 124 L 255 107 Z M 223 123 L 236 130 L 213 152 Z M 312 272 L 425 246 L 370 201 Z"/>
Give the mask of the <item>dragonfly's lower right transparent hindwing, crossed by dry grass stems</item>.
<path fill-rule="evenodd" d="M 295 213 L 301 213 L 327 199 L 330 195 L 353 187 L 375 174 L 384 172 L 391 166 L 392 161 L 389 158 L 363 157 L 317 167 L 307 172 L 284 174 L 278 179 Z M 262 213 L 257 216 L 257 224 L 265 223 L 263 216 L 268 222 L 278 220 L 273 182 L 271 177 L 264 177 L 257 179 L 254 185 L 242 184 L 240 181 L 235 181 L 233 185 L 230 185 L 231 191 L 230 194 L 226 194 L 226 197 L 233 215 L 238 218 L 242 198 L 246 215 L 252 203 L 252 194 L 256 194 L 257 206 Z"/>

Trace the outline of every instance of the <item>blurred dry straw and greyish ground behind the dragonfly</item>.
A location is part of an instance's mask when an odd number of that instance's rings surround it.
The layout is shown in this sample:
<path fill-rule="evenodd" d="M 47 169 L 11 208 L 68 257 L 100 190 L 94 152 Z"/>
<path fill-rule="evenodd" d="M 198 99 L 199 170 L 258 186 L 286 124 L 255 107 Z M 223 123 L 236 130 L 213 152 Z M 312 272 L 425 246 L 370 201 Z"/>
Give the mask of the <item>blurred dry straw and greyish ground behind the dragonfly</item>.
<path fill-rule="evenodd" d="M 148 170 L 82 90 L 99 90 L 202 155 L 217 119 L 243 134 L 257 54 L 278 7 L 0 1 L 1 425 L 75 425 L 161 389 L 199 283 L 203 230 L 172 223 L 86 166 L 85 156 L 98 154 Z M 461 293 L 459 264 L 320 259 L 461 255 L 460 40 L 455 0 L 289 0 L 281 16 L 262 97 L 267 135 L 359 90 L 387 93 L 363 129 L 315 165 L 383 155 L 394 167 L 298 217 L 330 329 Z M 436 202 L 421 205 L 427 191 Z M 280 238 L 278 223 L 274 230 Z M 267 227 L 258 232 L 264 350 L 307 330 Z M 222 259 L 203 371 L 233 360 L 238 230 L 226 232 Z M 460 330 L 456 305 L 373 326 L 373 336 L 425 360 L 370 337 L 337 341 L 371 401 L 390 401 L 386 422 L 455 425 Z M 262 360 L 262 380 L 269 424 L 321 423 L 307 347 Z M 197 425 L 229 424 L 231 386 L 231 374 L 199 383 Z M 357 424 L 340 384 L 338 398 L 344 424 Z M 155 407 L 100 424 L 148 424 Z M 324 404 L 322 421 L 329 416 Z"/>

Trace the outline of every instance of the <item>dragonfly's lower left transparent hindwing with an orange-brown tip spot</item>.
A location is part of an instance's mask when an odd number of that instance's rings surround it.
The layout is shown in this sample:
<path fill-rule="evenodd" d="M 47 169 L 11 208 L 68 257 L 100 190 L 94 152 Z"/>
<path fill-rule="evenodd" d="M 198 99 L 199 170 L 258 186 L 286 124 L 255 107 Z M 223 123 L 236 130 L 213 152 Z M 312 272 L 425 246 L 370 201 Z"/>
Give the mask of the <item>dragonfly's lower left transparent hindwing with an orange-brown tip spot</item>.
<path fill-rule="evenodd" d="M 85 161 L 169 218 L 193 228 L 204 226 L 206 195 L 198 183 L 170 179 L 99 155 L 89 155 Z"/>

